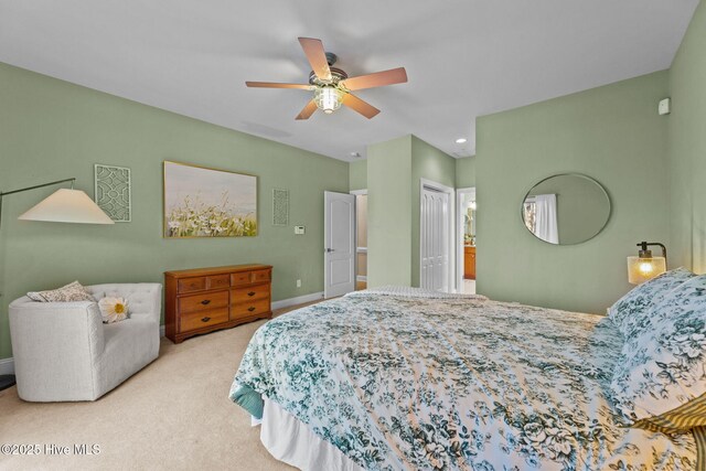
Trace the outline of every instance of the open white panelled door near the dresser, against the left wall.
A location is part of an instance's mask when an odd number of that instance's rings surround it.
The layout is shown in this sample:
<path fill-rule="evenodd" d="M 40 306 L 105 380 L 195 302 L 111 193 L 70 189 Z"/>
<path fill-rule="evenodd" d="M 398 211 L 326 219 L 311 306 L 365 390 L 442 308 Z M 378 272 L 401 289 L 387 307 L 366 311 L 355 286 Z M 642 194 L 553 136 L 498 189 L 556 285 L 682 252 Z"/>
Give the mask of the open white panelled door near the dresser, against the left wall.
<path fill-rule="evenodd" d="M 327 191 L 323 201 L 323 297 L 328 299 L 355 290 L 355 195 Z"/>

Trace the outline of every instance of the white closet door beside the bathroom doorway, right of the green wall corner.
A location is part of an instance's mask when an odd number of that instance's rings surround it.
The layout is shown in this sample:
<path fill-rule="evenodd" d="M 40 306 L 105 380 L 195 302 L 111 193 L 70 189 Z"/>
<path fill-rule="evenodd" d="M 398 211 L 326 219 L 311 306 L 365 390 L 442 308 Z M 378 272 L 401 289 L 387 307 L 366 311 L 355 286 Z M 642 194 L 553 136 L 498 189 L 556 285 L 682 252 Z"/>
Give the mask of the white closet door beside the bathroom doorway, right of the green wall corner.
<path fill-rule="evenodd" d="M 421 288 L 449 290 L 449 194 L 421 190 L 420 260 Z"/>

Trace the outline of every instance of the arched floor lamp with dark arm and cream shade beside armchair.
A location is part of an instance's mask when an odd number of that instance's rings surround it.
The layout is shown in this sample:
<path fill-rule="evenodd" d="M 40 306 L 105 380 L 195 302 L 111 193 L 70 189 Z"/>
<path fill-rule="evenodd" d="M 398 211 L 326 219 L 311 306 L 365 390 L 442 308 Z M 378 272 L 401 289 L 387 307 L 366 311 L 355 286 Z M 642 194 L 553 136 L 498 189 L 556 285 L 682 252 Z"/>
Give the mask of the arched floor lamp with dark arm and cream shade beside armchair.
<path fill-rule="evenodd" d="M 18 220 L 22 221 L 46 221 L 53 223 L 74 224 L 115 224 L 115 222 L 103 212 L 86 193 L 74 190 L 76 179 L 57 180 L 55 182 L 28 186 L 20 190 L 0 192 L 0 225 L 2 224 L 2 200 L 15 193 L 36 190 L 44 186 L 57 185 L 71 182 L 71 189 L 58 189 L 39 204 L 23 213 Z M 14 385 L 14 375 L 0 375 L 0 390 Z"/>

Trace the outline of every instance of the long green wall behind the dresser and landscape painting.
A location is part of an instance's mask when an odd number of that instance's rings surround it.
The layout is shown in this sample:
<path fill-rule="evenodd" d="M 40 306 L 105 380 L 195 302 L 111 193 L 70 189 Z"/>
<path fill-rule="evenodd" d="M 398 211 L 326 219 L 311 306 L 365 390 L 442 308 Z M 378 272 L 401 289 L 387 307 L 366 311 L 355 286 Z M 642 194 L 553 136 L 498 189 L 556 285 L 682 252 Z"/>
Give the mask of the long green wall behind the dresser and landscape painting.
<path fill-rule="evenodd" d="M 258 175 L 257 237 L 162 238 L 162 161 Z M 0 229 L 0 357 L 11 355 L 7 304 L 28 290 L 162 281 L 168 269 L 272 264 L 274 300 L 323 289 L 323 192 L 349 190 L 345 162 L 0 64 L 0 189 L 76 176 L 93 164 L 132 170 L 132 223 L 52 224 L 17 217 L 55 189 L 8 196 Z M 271 225 L 271 190 L 290 190 L 290 225 Z M 295 236 L 293 225 L 307 226 Z M 407 251 L 408 253 L 408 251 Z M 296 279 L 302 287 L 296 288 Z"/>

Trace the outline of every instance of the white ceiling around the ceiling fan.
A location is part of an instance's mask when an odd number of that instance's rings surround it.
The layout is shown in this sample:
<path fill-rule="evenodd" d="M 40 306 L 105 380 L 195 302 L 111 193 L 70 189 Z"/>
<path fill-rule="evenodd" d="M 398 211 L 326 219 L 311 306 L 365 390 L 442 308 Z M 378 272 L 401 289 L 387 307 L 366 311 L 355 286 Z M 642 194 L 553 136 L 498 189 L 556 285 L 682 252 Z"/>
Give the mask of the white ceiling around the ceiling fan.
<path fill-rule="evenodd" d="M 414 133 L 474 154 L 477 116 L 667 68 L 698 0 L 0 0 L 0 62 L 342 160 Z M 308 121 L 298 36 L 362 75 L 382 109 Z M 0 84 L 1 86 L 1 84 Z M 468 138 L 457 144 L 459 137 Z"/>

